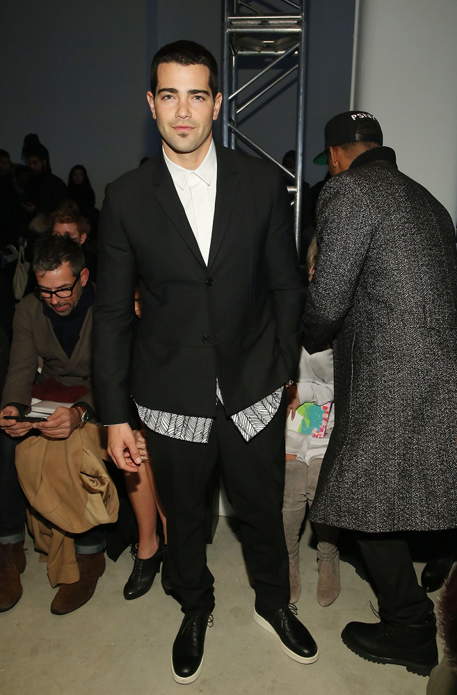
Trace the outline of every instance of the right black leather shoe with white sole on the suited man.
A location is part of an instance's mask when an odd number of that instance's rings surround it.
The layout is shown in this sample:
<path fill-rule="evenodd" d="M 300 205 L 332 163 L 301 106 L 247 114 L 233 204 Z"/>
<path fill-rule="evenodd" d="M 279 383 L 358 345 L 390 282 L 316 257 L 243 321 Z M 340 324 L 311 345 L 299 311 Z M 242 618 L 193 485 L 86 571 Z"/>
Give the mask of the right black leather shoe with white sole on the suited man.
<path fill-rule="evenodd" d="M 275 635 L 284 654 L 299 664 L 313 664 L 319 659 L 319 649 L 310 632 L 300 623 L 293 603 L 268 613 L 254 609 L 255 622 Z"/>

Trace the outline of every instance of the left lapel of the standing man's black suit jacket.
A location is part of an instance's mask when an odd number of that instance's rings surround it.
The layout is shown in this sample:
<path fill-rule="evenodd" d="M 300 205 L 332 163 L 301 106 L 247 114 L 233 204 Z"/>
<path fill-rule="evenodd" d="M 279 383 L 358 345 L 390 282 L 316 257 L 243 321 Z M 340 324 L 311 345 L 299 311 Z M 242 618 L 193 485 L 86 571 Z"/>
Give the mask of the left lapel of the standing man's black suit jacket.
<path fill-rule="evenodd" d="M 163 209 L 163 212 L 167 215 L 173 227 L 177 229 L 179 234 L 182 236 L 189 249 L 197 259 L 197 261 L 206 268 L 206 263 L 203 260 L 203 256 L 198 247 L 197 240 L 195 239 L 195 234 L 191 229 L 189 220 L 184 211 L 181 201 L 179 200 L 179 195 L 177 195 L 175 184 L 171 177 L 168 167 L 163 160 L 162 154 L 157 157 L 157 166 L 154 170 L 152 184 L 155 191 L 155 196 L 157 202 Z"/>

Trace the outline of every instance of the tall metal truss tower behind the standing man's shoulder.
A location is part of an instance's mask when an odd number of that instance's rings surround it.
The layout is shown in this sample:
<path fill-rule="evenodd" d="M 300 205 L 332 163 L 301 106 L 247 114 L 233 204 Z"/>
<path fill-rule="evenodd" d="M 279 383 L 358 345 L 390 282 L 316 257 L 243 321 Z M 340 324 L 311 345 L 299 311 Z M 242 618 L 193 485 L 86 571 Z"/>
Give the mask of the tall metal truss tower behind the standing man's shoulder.
<path fill-rule="evenodd" d="M 267 13 L 268 0 L 224 0 L 224 40 L 223 40 L 223 107 L 222 129 L 225 147 L 236 148 L 236 140 L 250 147 L 256 154 L 274 162 L 290 182 L 287 186 L 294 206 L 294 232 L 298 253 L 300 253 L 300 229 L 303 188 L 303 152 L 305 133 L 305 66 L 307 41 L 307 0 L 277 0 L 276 5 L 284 7 L 282 13 Z M 260 6 L 260 7 L 259 7 Z M 286 7 L 287 6 L 287 12 Z M 263 8 L 263 9 L 262 9 Z M 246 84 L 238 86 L 238 71 L 241 60 L 249 56 L 259 60 L 259 72 Z M 266 67 L 265 56 L 271 59 Z M 289 56 L 294 57 L 294 65 L 289 67 Z M 284 60 L 286 59 L 286 60 Z M 287 66 L 284 65 L 287 63 Z M 282 74 L 266 84 L 258 80 L 264 78 L 272 68 L 282 69 Z M 296 139 L 295 171 L 291 172 L 275 160 L 262 147 L 248 138 L 238 126 L 238 117 L 259 97 L 274 88 L 278 83 L 297 72 L 296 100 Z M 257 84 L 255 84 L 257 83 Z M 252 85 L 257 91 L 252 93 Z M 250 96 L 246 97 L 246 90 Z M 243 100 L 243 97 L 246 99 Z M 278 123 L 278 129 L 281 124 Z"/>

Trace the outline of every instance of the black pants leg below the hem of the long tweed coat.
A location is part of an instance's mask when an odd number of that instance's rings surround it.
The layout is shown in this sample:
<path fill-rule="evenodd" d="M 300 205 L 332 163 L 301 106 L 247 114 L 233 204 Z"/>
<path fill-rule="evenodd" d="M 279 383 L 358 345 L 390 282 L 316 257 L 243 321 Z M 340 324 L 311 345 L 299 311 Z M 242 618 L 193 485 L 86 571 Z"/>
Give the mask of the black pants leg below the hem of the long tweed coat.
<path fill-rule="evenodd" d="M 358 543 L 378 589 L 380 616 L 392 623 L 419 623 L 433 601 L 417 582 L 408 543 L 399 534 L 360 534 Z"/>

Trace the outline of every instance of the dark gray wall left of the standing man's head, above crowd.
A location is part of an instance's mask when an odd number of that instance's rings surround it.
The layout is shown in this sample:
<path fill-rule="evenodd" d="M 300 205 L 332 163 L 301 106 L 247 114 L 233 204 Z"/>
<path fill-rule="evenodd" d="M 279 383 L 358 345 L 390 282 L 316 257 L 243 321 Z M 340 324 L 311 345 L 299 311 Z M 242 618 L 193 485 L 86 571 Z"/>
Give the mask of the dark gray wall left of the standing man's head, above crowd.
<path fill-rule="evenodd" d="M 38 133 L 65 183 L 104 186 L 138 166 L 147 128 L 146 0 L 2 0 L 0 147 Z"/>

